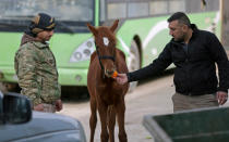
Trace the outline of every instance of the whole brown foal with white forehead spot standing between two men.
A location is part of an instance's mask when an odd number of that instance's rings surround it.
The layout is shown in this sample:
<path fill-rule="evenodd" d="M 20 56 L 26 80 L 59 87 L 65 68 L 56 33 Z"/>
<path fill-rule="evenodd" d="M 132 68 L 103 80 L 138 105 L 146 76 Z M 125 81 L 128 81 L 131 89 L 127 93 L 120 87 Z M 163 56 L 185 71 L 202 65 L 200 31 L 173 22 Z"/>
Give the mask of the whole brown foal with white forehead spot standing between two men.
<path fill-rule="evenodd" d="M 119 125 L 119 140 L 126 142 L 124 129 L 124 95 L 129 83 L 121 86 L 112 78 L 114 72 L 126 73 L 124 53 L 116 48 L 114 30 L 118 26 L 117 20 L 111 27 L 98 28 L 87 24 L 95 38 L 96 51 L 91 55 L 91 64 L 87 74 L 87 89 L 91 95 L 91 142 L 94 141 L 97 124 L 96 112 L 98 109 L 101 121 L 101 142 L 114 142 L 116 116 Z M 109 129 L 109 134 L 108 134 Z"/>

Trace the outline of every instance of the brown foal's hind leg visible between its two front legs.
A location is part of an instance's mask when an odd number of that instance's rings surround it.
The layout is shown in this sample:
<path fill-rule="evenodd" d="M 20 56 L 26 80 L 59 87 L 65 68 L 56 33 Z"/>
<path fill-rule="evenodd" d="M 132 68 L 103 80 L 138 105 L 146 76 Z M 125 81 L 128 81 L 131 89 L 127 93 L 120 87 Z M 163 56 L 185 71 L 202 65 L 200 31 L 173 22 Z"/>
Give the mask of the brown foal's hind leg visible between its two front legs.
<path fill-rule="evenodd" d="M 116 109 L 113 105 L 108 107 L 107 125 L 109 129 L 109 142 L 114 142 Z"/>

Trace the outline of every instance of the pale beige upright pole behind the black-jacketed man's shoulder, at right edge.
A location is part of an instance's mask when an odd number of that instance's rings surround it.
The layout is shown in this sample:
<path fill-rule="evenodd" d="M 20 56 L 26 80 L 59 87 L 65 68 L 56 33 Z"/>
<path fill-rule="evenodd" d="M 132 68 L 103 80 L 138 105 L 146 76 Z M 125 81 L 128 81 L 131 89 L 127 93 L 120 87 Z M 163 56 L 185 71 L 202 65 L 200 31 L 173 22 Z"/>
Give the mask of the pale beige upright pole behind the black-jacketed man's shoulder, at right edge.
<path fill-rule="evenodd" d="M 220 0 L 221 43 L 229 56 L 229 0 Z"/>

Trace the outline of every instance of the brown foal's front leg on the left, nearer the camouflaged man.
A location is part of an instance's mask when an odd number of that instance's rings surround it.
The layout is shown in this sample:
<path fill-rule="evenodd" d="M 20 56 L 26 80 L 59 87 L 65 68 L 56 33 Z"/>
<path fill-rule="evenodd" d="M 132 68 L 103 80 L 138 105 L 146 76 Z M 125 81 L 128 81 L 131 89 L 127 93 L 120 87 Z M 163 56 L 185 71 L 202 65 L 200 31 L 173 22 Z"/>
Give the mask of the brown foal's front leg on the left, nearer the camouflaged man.
<path fill-rule="evenodd" d="M 108 131 L 107 131 L 107 109 L 108 106 L 105 105 L 103 102 L 98 102 L 98 113 L 101 121 L 101 134 L 100 139 L 101 142 L 108 142 Z"/>

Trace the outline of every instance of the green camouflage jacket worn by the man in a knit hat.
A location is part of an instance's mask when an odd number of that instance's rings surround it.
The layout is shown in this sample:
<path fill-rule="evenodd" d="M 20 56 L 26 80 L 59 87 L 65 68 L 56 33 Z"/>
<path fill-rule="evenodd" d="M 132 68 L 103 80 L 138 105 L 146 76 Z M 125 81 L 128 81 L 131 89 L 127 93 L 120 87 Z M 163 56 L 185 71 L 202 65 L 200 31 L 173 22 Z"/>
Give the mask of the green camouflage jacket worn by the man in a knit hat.
<path fill-rule="evenodd" d="M 33 105 L 53 103 L 60 99 L 56 59 L 48 43 L 24 35 L 14 59 L 14 68 L 22 88 Z"/>

